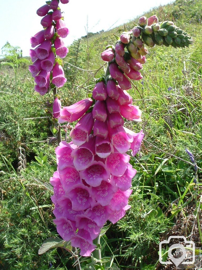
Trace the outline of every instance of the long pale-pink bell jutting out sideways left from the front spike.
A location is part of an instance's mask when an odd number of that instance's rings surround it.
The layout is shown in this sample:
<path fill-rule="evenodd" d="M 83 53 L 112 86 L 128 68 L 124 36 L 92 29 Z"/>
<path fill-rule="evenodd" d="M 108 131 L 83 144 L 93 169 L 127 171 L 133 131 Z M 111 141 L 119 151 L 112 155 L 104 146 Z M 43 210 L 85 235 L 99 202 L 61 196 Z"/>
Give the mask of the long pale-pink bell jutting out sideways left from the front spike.
<path fill-rule="evenodd" d="M 53 82 L 53 80 L 52 80 Z M 92 99 L 82 99 L 70 106 L 63 107 L 60 110 L 60 117 L 58 119 L 59 123 L 64 122 L 74 122 L 81 118 L 83 114 L 87 112 L 87 110 L 92 105 Z"/>

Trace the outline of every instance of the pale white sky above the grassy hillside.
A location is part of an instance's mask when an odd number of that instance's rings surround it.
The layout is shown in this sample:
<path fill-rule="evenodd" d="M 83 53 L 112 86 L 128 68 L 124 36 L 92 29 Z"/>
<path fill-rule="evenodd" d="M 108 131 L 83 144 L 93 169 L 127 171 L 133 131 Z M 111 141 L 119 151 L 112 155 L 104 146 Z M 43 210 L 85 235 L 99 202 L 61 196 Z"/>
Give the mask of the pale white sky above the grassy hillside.
<path fill-rule="evenodd" d="M 170 2 L 173 0 L 70 0 L 68 4 L 60 3 L 70 31 L 64 39 L 65 45 L 85 36 L 87 25 L 88 32 L 99 32 L 102 29 L 106 31 L 127 23 L 152 7 Z M 0 0 L 0 49 L 8 41 L 13 46 L 19 46 L 23 56 L 29 55 L 30 37 L 43 29 L 40 25 L 42 17 L 36 14 L 36 10 L 44 4 L 45 0 Z"/>

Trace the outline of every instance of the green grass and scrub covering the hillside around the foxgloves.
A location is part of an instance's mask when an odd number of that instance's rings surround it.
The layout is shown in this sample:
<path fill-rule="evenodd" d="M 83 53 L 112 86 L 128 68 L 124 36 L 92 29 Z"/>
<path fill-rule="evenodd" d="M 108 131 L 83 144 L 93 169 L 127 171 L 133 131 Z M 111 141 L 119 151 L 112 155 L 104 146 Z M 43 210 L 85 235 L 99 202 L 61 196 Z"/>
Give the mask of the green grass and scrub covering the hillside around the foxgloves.
<path fill-rule="evenodd" d="M 196 189 L 194 166 L 185 152 L 188 148 L 198 167 L 202 167 L 201 5 L 202 0 L 177 0 L 146 13 L 148 17 L 156 14 L 159 20 L 173 20 L 193 36 L 194 44 L 186 49 L 158 46 L 149 49 L 142 70 L 144 79 L 135 82 L 129 91 L 143 116 L 141 123 L 128 122 L 127 127 L 134 131 L 142 128 L 145 140 L 141 152 L 131 158 L 138 171 L 133 180 L 131 209 L 110 227 L 101 242 L 102 251 L 105 249 L 105 255 L 110 256 L 112 250 L 114 262 L 121 269 L 152 269 L 158 261 L 159 241 L 166 239 L 167 232 L 172 235 L 178 230 L 190 237 L 192 231 L 194 241 L 201 246 L 197 221 L 194 226 L 190 222 L 191 213 L 196 214 L 196 192 L 201 222 L 201 170 Z M 132 28 L 133 22 L 126 26 Z M 63 105 L 86 97 L 93 89 L 95 79 L 103 73 L 103 68 L 100 69 L 103 44 L 115 43 L 112 33 L 120 35 L 122 31 L 123 26 L 100 31 L 75 40 L 70 46 L 64 59 L 69 79 L 61 89 Z M 51 102 L 51 95 L 41 97 L 34 92 L 34 80 L 26 63 L 18 67 L 16 82 L 15 72 L 1 67 L 0 269 L 3 270 L 46 270 L 51 265 L 51 269 L 72 269 L 68 252 L 61 248 L 38 255 L 45 239 L 58 237 L 49 184 L 56 168 L 56 144 L 47 145 L 50 122 L 43 109 L 44 103 Z M 181 232 L 183 226 L 187 230 Z"/>

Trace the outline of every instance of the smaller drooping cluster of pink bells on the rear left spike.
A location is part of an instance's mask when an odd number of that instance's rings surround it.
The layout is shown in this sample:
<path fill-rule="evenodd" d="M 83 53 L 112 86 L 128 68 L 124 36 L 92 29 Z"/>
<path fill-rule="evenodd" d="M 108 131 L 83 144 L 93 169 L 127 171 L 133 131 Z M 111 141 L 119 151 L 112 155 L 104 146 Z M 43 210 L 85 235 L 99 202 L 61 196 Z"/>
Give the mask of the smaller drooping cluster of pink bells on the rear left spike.
<path fill-rule="evenodd" d="M 62 4 L 68 2 L 69 0 L 61 0 Z M 36 83 L 34 90 L 40 95 L 48 92 L 50 83 L 62 87 L 67 81 L 61 66 L 61 58 L 64 58 L 68 53 L 63 38 L 68 35 L 69 30 L 65 26 L 58 6 L 59 0 L 47 1 L 46 3 L 37 10 L 37 15 L 43 17 L 41 25 L 44 29 L 30 38 L 32 48 L 37 47 L 30 49 L 33 64 L 29 66 L 29 71 Z"/>

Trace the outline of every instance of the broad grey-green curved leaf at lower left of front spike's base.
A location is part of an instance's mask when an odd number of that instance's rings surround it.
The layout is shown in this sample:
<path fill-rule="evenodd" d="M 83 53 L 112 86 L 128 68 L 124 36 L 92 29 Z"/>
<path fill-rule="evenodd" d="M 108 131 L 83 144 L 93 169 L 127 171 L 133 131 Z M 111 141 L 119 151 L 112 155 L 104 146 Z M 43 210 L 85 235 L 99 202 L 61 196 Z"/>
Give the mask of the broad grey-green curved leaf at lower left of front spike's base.
<path fill-rule="evenodd" d="M 68 251 L 72 250 L 72 247 L 71 245 L 69 245 L 69 242 L 61 240 L 60 238 L 50 237 L 43 242 L 38 253 L 39 255 L 41 255 L 41 254 L 44 254 L 49 249 L 56 248 L 56 247 L 65 248 Z"/>

